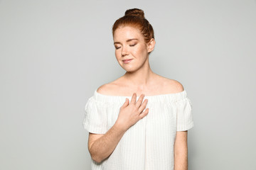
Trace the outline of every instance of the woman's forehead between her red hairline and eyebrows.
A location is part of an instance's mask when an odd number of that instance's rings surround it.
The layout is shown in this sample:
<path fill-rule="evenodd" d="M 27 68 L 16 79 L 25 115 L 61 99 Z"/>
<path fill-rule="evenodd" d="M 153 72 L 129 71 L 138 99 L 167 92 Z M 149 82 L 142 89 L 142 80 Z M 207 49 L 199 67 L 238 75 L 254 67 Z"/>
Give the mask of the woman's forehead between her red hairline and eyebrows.
<path fill-rule="evenodd" d="M 122 26 L 114 31 L 114 41 L 125 41 L 132 38 L 137 38 L 138 40 L 143 40 L 142 33 L 138 28 L 131 26 Z"/>

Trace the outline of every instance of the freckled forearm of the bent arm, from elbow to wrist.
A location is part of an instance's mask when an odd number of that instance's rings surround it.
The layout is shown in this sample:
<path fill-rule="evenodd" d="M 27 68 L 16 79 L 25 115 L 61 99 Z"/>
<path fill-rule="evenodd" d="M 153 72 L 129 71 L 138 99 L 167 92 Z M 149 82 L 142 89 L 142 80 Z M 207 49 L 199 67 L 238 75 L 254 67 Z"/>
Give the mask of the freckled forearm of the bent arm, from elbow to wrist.
<path fill-rule="evenodd" d="M 105 135 L 93 142 L 92 147 L 90 148 L 92 159 L 96 162 L 102 162 L 102 160 L 109 157 L 117 146 L 119 140 L 121 140 L 124 132 L 126 132 L 126 130 L 115 123 Z"/>

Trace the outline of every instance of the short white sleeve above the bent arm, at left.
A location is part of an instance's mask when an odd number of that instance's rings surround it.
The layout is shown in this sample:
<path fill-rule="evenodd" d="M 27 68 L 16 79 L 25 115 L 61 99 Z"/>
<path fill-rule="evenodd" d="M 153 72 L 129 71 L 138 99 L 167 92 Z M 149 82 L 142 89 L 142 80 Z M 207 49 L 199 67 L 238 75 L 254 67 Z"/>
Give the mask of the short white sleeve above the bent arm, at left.
<path fill-rule="evenodd" d="M 85 104 L 83 126 L 88 132 L 105 134 L 107 132 L 107 115 L 104 103 L 89 98 Z"/>

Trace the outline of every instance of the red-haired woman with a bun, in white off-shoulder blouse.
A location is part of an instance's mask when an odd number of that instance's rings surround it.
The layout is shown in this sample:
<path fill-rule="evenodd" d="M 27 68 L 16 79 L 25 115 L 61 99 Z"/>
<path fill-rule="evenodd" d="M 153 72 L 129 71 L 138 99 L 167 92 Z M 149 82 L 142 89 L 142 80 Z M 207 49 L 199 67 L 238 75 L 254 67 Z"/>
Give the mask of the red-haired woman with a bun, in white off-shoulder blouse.
<path fill-rule="evenodd" d="M 155 40 L 144 11 L 127 10 L 112 34 L 126 73 L 100 86 L 85 105 L 92 170 L 188 169 L 191 101 L 181 83 L 149 67 Z"/>

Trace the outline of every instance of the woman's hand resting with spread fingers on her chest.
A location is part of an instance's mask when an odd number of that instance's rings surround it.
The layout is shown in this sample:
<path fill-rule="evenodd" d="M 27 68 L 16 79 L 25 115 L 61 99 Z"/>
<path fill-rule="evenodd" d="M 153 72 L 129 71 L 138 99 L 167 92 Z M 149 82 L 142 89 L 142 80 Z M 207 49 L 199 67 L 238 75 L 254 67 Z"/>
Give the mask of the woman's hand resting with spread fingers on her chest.
<path fill-rule="evenodd" d="M 117 124 L 124 130 L 128 130 L 132 125 L 137 123 L 139 120 L 144 118 L 149 113 L 149 108 L 146 108 L 146 103 L 148 99 L 145 99 L 142 103 L 144 98 L 144 94 L 139 96 L 138 101 L 137 94 L 134 93 L 132 95 L 131 102 L 129 103 L 129 99 L 126 98 L 124 104 L 121 106 L 119 115 L 117 118 Z M 144 108 L 146 108 L 145 111 Z M 143 112 L 142 112 L 143 111 Z"/>

